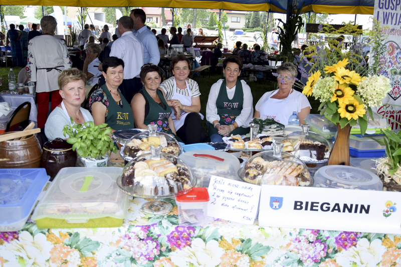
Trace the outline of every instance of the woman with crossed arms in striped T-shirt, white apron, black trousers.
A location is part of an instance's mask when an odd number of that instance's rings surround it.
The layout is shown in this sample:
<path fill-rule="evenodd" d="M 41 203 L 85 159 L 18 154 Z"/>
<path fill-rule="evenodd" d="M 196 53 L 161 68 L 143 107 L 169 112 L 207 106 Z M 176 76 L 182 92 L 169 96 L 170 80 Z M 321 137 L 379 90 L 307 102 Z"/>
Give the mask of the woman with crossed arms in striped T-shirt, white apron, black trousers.
<path fill-rule="evenodd" d="M 171 107 L 171 118 L 177 136 L 185 144 L 203 143 L 206 139 L 206 133 L 201 126 L 204 115 L 199 113 L 199 86 L 188 78 L 190 66 L 186 57 L 175 57 L 170 65 L 173 76 L 163 81 L 158 88 Z"/>

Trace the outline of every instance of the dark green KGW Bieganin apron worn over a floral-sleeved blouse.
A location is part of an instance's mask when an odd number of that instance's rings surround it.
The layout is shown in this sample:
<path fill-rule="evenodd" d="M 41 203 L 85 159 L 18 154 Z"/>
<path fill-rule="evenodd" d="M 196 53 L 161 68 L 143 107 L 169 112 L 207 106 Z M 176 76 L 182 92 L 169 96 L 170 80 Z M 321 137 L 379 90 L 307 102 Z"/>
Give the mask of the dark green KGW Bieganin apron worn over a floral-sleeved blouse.
<path fill-rule="evenodd" d="M 117 102 L 113 99 L 113 96 L 111 95 L 109 89 L 107 89 L 106 84 L 102 85 L 100 88 L 102 88 L 103 92 L 106 94 L 109 102 L 107 119 L 105 121 L 107 126 L 114 130 L 135 128 L 131 106 L 127 100 L 125 100 L 124 96 L 122 96 L 122 94 L 119 92 L 122 100 L 122 107 L 120 107 L 120 105 L 117 104 Z"/>

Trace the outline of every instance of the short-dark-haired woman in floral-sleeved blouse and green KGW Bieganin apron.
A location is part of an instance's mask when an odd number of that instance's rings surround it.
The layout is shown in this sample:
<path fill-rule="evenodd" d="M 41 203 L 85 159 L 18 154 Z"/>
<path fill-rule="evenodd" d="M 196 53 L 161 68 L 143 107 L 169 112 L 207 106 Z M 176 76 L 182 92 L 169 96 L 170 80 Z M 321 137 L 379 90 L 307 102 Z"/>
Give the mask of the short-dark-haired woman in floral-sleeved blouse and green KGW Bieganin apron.
<path fill-rule="evenodd" d="M 135 128 L 130 105 L 118 89 L 124 78 L 124 61 L 116 57 L 105 59 L 102 73 L 106 83 L 89 100 L 95 124 L 107 123 L 112 131 Z"/>

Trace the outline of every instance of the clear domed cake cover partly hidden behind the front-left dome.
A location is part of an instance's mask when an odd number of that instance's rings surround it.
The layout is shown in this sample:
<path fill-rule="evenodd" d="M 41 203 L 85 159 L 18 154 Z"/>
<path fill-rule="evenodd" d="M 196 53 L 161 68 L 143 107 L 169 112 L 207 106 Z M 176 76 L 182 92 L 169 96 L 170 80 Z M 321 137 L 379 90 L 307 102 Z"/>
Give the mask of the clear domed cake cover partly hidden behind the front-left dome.
<path fill-rule="evenodd" d="M 149 124 L 147 126 L 149 131 L 140 132 L 125 143 L 120 151 L 121 158 L 130 161 L 137 156 L 150 153 L 150 146 L 161 146 L 162 153 L 168 153 L 177 157 L 181 154 L 181 146 L 172 135 L 156 131 L 156 124 Z"/>

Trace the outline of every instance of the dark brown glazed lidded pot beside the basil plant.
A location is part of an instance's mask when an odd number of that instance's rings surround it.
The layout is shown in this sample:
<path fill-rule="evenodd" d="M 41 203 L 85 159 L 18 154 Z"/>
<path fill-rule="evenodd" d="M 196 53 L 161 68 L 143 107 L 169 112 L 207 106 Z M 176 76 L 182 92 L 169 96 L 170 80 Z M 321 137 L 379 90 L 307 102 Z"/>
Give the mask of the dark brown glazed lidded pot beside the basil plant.
<path fill-rule="evenodd" d="M 46 169 L 52 181 L 57 173 L 65 167 L 75 167 L 77 154 L 67 141 L 56 138 L 43 145 L 41 167 Z"/>

